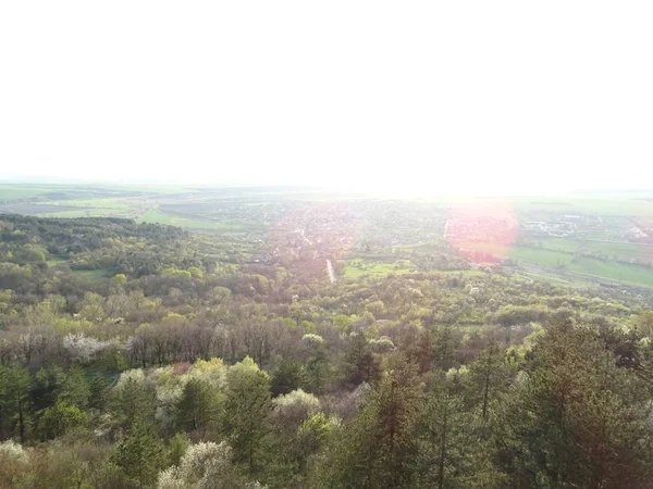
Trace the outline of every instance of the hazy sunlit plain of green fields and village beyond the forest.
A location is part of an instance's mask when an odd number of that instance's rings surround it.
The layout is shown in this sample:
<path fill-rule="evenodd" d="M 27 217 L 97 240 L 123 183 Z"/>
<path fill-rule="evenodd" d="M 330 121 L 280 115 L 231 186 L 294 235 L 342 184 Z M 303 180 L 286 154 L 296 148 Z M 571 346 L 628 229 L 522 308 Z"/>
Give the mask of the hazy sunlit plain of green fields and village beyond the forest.
<path fill-rule="evenodd" d="M 0 184 L 0 212 L 178 226 L 207 235 L 206 247 L 225 263 L 279 256 L 321 279 L 326 259 L 344 280 L 492 262 L 552 280 L 653 287 L 649 198 L 410 200 L 300 187 Z"/>

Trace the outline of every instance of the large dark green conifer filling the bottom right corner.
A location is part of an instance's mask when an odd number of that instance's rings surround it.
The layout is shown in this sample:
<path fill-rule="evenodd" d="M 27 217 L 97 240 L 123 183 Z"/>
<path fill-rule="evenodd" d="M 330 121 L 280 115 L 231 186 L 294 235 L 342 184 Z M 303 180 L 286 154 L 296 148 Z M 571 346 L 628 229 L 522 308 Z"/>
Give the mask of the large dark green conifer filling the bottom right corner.
<path fill-rule="evenodd" d="M 498 439 L 514 478 L 532 487 L 645 488 L 653 475 L 644 381 L 591 327 L 565 319 L 537 342 Z"/>

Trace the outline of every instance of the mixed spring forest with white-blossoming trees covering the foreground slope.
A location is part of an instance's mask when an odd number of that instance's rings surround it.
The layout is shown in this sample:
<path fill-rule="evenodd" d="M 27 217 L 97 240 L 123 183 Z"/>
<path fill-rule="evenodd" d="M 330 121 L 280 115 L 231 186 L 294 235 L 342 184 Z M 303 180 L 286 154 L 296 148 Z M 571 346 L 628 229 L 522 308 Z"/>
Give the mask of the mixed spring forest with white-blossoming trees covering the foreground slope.
<path fill-rule="evenodd" d="M 0 488 L 653 488 L 650 297 L 222 243 L 0 215 Z"/>

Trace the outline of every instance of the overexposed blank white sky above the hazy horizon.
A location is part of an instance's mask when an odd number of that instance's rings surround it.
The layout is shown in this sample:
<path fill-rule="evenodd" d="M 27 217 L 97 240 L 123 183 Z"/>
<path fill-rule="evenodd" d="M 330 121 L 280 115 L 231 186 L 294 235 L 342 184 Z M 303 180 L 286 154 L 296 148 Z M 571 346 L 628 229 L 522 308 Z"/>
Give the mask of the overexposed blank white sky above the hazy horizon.
<path fill-rule="evenodd" d="M 0 2 L 0 179 L 653 188 L 650 1 Z"/>

